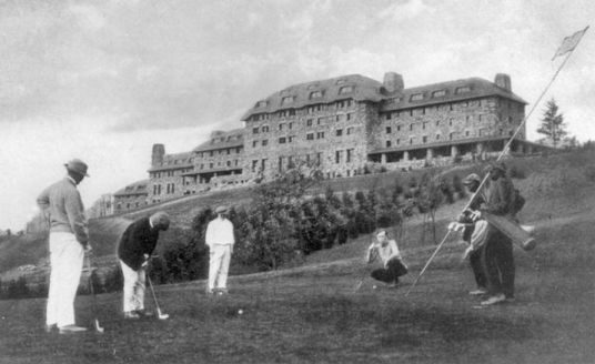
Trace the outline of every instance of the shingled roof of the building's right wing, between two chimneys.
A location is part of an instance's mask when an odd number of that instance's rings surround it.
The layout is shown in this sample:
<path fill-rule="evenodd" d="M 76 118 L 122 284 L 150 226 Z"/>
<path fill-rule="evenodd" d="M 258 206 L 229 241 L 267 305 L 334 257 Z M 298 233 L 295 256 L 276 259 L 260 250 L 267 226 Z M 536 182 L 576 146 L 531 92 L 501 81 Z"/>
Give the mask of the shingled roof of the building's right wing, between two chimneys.
<path fill-rule="evenodd" d="M 457 90 L 466 92 L 457 93 Z M 381 107 L 381 111 L 420 108 L 422 105 L 463 101 L 491 95 L 502 97 L 524 104 L 527 103 L 516 94 L 497 87 L 495 83 L 481 78 L 471 78 L 405 89 L 400 93 L 386 97 L 386 101 Z M 415 100 L 416 98 L 418 100 Z"/>

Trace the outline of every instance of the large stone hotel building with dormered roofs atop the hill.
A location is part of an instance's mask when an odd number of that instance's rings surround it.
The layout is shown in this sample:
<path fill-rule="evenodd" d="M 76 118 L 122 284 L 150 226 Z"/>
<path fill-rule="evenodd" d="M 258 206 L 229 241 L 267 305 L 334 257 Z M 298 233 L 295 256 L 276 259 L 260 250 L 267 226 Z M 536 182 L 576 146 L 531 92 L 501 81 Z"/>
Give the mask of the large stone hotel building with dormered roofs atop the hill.
<path fill-rule="evenodd" d="M 135 209 L 142 199 L 158 203 L 268 181 L 300 163 L 333 179 L 377 165 L 411 170 L 482 159 L 503 150 L 525 105 L 507 74 L 494 82 L 471 78 L 411 89 L 394 72 L 383 82 L 352 74 L 291 85 L 248 110 L 244 128 L 212 132 L 191 152 L 165 154 L 155 144 L 149 180 L 138 183 L 145 195 L 130 200 L 134 186 L 127 186 L 114 195 L 115 211 Z M 507 152 L 544 149 L 525 135 L 523 127 Z"/>

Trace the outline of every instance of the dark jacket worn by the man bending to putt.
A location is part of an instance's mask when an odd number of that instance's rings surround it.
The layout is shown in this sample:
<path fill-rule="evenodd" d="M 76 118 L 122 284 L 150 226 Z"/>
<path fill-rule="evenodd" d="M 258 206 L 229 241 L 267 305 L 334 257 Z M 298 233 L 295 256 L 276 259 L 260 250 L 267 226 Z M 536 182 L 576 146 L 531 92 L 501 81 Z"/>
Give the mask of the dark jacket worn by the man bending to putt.
<path fill-rule="evenodd" d="M 144 254 L 151 255 L 159 239 L 159 230 L 151 228 L 149 216 L 134 221 L 118 243 L 118 259 L 138 271 L 144 263 Z"/>

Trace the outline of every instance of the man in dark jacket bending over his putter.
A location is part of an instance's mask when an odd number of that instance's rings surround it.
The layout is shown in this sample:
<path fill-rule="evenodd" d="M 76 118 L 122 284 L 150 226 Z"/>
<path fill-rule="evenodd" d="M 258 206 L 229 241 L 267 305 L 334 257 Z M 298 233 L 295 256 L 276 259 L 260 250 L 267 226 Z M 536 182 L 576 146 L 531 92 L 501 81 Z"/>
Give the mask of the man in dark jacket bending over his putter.
<path fill-rule="evenodd" d="M 170 216 L 164 212 L 157 212 L 130 224 L 118 243 L 118 259 L 124 276 L 124 318 L 135 320 L 153 315 L 144 310 L 144 269 L 155 250 L 159 232 L 169 228 Z"/>

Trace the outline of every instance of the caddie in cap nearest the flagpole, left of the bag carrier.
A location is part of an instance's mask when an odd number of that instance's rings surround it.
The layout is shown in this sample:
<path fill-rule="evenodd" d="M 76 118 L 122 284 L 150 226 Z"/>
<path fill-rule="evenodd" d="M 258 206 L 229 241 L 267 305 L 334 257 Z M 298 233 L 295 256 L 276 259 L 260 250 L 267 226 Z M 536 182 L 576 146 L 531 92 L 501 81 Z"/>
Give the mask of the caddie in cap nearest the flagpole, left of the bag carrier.
<path fill-rule="evenodd" d="M 467 175 L 463 184 L 471 193 L 475 194 L 473 201 L 468 204 L 468 210 L 458 216 L 458 223 L 464 225 L 463 241 L 468 244 L 463 257 L 468 257 L 473 276 L 475 277 L 475 284 L 477 285 L 476 290 L 471 291 L 470 294 L 482 295 L 487 293 L 487 276 L 482 264 L 482 252 L 485 246 L 488 224 L 485 220 L 474 220 L 472 212 L 478 211 L 486 199 L 483 191 L 477 192 L 482 184 L 482 179 L 477 174 L 472 173 Z M 451 229 L 452 226 L 451 224 Z"/>

